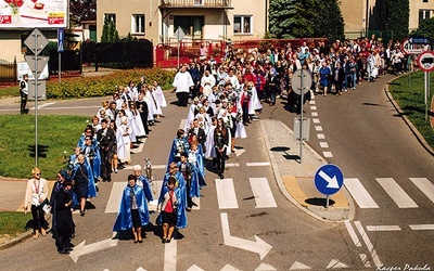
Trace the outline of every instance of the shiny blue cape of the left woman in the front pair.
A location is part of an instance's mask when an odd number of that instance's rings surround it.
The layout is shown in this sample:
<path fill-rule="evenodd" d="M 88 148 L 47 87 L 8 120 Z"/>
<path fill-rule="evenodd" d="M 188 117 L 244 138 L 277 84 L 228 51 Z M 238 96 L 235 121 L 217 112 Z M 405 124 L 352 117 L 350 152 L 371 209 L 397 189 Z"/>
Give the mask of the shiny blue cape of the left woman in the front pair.
<path fill-rule="evenodd" d="M 124 189 L 124 193 L 120 198 L 119 212 L 117 214 L 115 224 L 113 225 L 114 232 L 132 229 L 131 199 L 129 196 L 130 189 L 131 188 L 129 185 Z M 150 216 L 143 189 L 136 184 L 132 190 L 135 191 L 141 224 L 145 225 L 149 223 Z"/>

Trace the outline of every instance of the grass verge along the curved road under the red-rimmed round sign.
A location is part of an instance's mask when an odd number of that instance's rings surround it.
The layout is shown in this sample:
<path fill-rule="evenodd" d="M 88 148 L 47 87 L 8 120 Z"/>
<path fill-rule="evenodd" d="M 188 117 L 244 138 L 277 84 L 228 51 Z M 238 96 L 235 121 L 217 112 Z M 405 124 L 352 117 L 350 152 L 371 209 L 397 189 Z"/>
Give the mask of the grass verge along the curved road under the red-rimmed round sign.
<path fill-rule="evenodd" d="M 434 86 L 431 80 L 431 86 Z M 424 103 L 424 75 L 422 72 L 412 73 L 409 76 L 401 76 L 390 85 L 390 90 L 398 103 L 404 114 L 418 128 L 425 141 L 434 149 L 434 128 L 431 127 L 430 117 L 434 117 L 434 112 L 431 112 L 431 101 L 433 92 L 431 91 L 427 112 L 427 120 L 425 120 L 425 103 Z"/>

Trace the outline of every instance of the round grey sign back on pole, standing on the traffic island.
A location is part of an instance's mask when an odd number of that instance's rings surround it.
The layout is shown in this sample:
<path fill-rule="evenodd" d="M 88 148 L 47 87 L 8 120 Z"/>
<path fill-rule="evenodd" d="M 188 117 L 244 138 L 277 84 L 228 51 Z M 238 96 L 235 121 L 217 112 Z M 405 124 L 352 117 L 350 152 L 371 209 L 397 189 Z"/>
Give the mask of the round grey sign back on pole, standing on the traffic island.
<path fill-rule="evenodd" d="M 297 69 L 294 72 L 292 75 L 292 89 L 295 93 L 301 95 L 299 98 L 299 109 L 301 109 L 301 116 L 299 116 L 299 164 L 303 163 L 303 141 L 304 141 L 304 134 L 303 134 L 303 103 L 304 103 L 304 95 L 307 93 L 307 91 L 310 91 L 310 85 L 311 85 L 311 76 L 307 70 Z M 297 122 L 295 121 L 294 125 Z M 295 130 L 295 129 L 294 129 Z"/>

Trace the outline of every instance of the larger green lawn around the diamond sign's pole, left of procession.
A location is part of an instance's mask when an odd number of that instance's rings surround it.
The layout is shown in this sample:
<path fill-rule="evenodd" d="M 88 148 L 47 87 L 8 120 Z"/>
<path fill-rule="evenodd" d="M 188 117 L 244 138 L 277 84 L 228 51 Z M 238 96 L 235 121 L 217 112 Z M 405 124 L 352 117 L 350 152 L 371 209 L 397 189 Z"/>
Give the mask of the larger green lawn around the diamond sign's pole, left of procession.
<path fill-rule="evenodd" d="M 55 179 L 64 166 L 64 151 L 72 153 L 86 127 L 88 118 L 81 116 L 38 116 L 38 145 L 47 146 L 39 156 L 38 167 L 46 179 Z M 35 157 L 29 147 L 35 146 L 35 115 L 1 115 L 0 176 L 31 177 Z M 42 150 L 42 149 L 40 149 Z"/>

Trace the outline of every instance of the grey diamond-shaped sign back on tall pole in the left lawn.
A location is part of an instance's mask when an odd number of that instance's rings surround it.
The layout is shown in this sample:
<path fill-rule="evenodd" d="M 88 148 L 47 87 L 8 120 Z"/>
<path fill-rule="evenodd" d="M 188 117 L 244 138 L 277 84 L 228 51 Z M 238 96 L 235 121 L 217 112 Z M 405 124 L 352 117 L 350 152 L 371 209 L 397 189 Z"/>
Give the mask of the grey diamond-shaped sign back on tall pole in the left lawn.
<path fill-rule="evenodd" d="M 48 62 L 48 57 L 38 57 L 38 55 L 48 44 L 48 39 L 38 28 L 35 28 L 35 30 L 24 41 L 24 44 L 26 44 L 35 54 L 35 56 L 26 57 L 26 61 L 35 75 L 35 167 L 38 167 L 38 74 L 42 72 L 44 66 L 41 67 L 41 65 L 38 65 L 38 61 Z"/>

